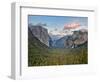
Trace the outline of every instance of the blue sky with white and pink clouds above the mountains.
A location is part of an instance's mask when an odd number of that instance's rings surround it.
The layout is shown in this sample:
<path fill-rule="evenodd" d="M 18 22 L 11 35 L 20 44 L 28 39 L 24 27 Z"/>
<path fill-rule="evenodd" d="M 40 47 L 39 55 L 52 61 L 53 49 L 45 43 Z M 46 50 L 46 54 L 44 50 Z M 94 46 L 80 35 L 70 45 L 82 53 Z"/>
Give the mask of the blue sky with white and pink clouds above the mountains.
<path fill-rule="evenodd" d="M 46 24 L 49 33 L 59 34 L 68 28 L 88 28 L 88 17 L 29 15 L 28 24 Z M 68 27 L 69 26 L 69 27 Z"/>

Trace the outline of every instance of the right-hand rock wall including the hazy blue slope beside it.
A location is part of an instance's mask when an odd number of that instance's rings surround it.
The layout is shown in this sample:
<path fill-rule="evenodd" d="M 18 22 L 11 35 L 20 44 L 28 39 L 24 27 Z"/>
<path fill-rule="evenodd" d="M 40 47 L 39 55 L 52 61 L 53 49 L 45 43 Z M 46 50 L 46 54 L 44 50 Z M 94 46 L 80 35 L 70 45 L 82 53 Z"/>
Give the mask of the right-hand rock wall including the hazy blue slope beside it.
<path fill-rule="evenodd" d="M 86 44 L 88 41 L 87 30 L 74 31 L 72 35 L 64 36 L 55 43 L 56 48 L 75 48 Z"/>

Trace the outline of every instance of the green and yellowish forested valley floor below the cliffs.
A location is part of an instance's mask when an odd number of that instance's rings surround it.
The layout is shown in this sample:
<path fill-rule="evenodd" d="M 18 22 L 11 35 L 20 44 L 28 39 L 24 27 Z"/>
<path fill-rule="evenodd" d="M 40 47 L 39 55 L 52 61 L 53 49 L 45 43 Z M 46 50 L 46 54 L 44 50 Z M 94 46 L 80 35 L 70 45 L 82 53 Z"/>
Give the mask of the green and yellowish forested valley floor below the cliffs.
<path fill-rule="evenodd" d="M 29 66 L 49 66 L 49 65 L 72 65 L 88 64 L 88 53 L 86 47 L 73 49 L 49 49 L 48 52 L 38 51 L 28 52 Z"/>

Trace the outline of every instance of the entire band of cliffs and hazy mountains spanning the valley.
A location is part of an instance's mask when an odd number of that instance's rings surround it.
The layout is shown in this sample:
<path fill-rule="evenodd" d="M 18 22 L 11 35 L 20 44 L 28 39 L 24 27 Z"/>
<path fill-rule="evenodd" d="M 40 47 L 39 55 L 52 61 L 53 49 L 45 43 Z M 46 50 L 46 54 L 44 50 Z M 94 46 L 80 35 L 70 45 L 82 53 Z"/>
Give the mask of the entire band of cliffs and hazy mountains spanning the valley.
<path fill-rule="evenodd" d="M 72 35 L 50 35 L 41 25 L 29 25 L 32 35 L 45 46 L 51 48 L 76 48 L 88 42 L 88 30 L 73 31 Z M 29 35 L 30 37 L 31 35 Z"/>

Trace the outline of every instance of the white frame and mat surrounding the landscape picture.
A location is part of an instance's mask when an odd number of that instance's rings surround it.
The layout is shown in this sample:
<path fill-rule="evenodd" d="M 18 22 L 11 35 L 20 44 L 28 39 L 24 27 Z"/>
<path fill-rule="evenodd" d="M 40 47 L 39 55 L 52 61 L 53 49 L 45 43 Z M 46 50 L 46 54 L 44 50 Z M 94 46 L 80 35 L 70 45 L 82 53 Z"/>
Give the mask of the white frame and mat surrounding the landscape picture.
<path fill-rule="evenodd" d="M 74 9 L 73 9 L 74 8 Z M 93 43 L 95 39 L 94 8 L 76 8 L 76 7 L 49 7 L 33 4 L 13 3 L 12 4 L 12 78 L 14 79 L 32 79 L 46 78 L 61 75 L 86 75 L 94 74 L 96 71 Z M 42 11 L 42 12 L 40 12 Z M 48 12 L 49 13 L 48 13 Z M 55 12 L 54 12 L 55 11 Z M 62 11 L 62 12 L 60 12 Z M 74 12 L 74 13 L 73 13 Z M 27 67 L 27 15 L 61 15 L 61 16 L 87 16 L 89 18 L 89 64 L 88 65 L 64 65 L 64 66 L 43 66 Z M 65 13 L 65 14 L 64 14 Z M 39 15 L 38 14 L 38 15 Z M 15 29 L 14 29 L 15 27 Z M 92 37 L 91 37 L 92 36 Z M 21 43 L 20 43 L 21 42 Z M 25 48 L 24 48 L 25 47 Z M 20 49 L 21 48 L 21 49 Z M 26 51 L 26 52 L 25 52 Z M 15 54 L 15 55 L 14 55 Z M 24 54 L 24 55 L 23 55 Z"/>

